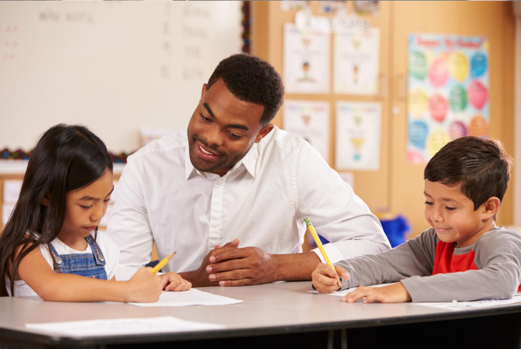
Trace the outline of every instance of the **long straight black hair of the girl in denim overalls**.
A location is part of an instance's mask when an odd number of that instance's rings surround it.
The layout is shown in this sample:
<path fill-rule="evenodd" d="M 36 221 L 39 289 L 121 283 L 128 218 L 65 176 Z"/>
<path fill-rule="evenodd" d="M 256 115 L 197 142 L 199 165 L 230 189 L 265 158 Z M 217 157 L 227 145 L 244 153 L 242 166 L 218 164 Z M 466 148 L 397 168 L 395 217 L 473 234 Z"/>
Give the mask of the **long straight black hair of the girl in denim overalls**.
<path fill-rule="evenodd" d="M 9 295 L 6 277 L 14 295 L 15 275 L 23 257 L 41 244 L 50 250 L 50 242 L 64 223 L 66 193 L 95 182 L 106 169 L 113 169 L 107 147 L 88 128 L 58 124 L 43 134 L 31 152 L 20 197 L 0 235 L 0 296 Z M 44 197 L 48 206 L 42 204 Z"/>

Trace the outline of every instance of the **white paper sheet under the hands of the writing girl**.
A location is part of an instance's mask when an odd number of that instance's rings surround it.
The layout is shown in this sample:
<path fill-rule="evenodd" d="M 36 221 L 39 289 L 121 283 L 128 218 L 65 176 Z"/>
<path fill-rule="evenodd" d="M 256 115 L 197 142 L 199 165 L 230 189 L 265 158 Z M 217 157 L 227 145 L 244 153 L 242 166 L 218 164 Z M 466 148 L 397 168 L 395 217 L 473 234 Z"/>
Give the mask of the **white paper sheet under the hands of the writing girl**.
<path fill-rule="evenodd" d="M 182 292 L 163 291 L 156 303 L 129 303 L 135 306 L 187 306 L 187 305 L 228 305 L 244 301 L 228 298 L 225 296 L 191 289 Z"/>

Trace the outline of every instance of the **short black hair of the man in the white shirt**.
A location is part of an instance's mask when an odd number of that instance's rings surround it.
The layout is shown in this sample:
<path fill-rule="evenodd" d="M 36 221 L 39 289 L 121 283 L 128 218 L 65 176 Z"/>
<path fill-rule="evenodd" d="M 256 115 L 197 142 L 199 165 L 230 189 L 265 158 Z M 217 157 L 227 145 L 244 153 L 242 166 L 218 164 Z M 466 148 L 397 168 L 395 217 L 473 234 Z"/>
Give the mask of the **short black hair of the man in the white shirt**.
<path fill-rule="evenodd" d="M 259 57 L 237 54 L 221 60 L 210 76 L 206 89 L 219 79 L 235 97 L 264 107 L 259 120 L 263 127 L 275 118 L 282 106 L 282 79 L 271 64 Z"/>

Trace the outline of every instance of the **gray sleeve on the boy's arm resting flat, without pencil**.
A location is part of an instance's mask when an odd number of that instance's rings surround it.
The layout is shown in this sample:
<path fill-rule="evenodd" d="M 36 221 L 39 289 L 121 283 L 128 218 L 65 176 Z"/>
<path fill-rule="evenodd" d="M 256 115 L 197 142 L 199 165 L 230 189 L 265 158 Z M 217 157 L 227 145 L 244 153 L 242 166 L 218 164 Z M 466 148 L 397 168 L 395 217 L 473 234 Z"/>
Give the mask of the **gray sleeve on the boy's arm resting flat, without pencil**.
<path fill-rule="evenodd" d="M 521 236 L 508 230 L 491 231 L 478 240 L 475 249 L 478 270 L 402 280 L 412 301 L 512 298 L 521 283 Z"/>

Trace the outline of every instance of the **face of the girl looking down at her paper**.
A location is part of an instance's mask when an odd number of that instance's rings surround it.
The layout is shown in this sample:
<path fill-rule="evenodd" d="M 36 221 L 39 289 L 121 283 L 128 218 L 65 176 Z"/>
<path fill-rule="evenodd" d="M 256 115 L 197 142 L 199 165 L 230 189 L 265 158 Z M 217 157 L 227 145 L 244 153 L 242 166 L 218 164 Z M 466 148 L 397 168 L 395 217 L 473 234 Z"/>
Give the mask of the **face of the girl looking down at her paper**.
<path fill-rule="evenodd" d="M 94 183 L 67 192 L 65 220 L 61 233 L 66 232 L 67 235 L 79 238 L 88 236 L 107 212 L 108 200 L 113 190 L 113 174 L 107 169 Z"/>

